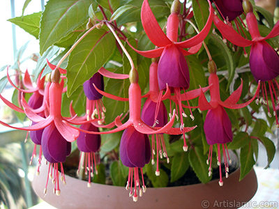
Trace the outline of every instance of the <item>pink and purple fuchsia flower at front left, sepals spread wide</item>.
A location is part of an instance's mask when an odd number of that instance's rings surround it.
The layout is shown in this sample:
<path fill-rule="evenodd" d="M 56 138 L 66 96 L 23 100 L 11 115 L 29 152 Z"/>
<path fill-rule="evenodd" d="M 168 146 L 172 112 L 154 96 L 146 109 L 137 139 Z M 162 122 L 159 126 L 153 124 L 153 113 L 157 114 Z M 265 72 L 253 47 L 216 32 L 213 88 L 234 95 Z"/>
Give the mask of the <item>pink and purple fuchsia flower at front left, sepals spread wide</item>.
<path fill-rule="evenodd" d="M 53 67 L 52 65 L 50 66 Z M 61 69 L 63 70 L 63 69 Z M 70 142 L 75 141 L 79 136 L 80 132 L 68 124 L 83 124 L 91 121 L 75 121 L 75 118 L 64 118 L 61 116 L 61 98 L 63 92 L 63 80 L 61 84 L 59 84 L 60 80 L 60 72 L 59 70 L 54 70 L 52 72 L 52 82 L 48 82 L 49 86 L 45 87 L 45 95 L 44 102 L 45 105 L 45 116 L 40 116 L 36 114 L 38 109 L 32 109 L 29 104 L 27 104 L 26 100 L 22 98 L 22 106 L 24 110 L 15 106 L 14 104 L 8 102 L 5 98 L 1 96 L 1 99 L 12 109 L 15 111 L 20 111 L 27 115 L 27 117 L 33 121 L 33 125 L 29 127 L 13 127 L 6 123 L 0 121 L 0 124 L 5 125 L 7 127 L 11 127 L 18 130 L 27 130 L 27 131 L 38 131 L 43 130 L 41 137 L 41 146 L 43 150 L 43 154 L 46 156 L 45 158 L 50 162 L 49 173 L 52 176 L 52 167 L 54 167 L 54 192 L 59 195 L 59 172 L 58 172 L 58 164 L 60 164 L 66 160 L 66 156 L 70 153 Z M 42 105 L 42 107 L 43 107 Z M 41 107 L 39 108 L 41 109 Z M 36 132 L 36 137 L 40 137 L 40 133 Z M 39 141 L 40 139 L 34 139 Z M 57 146 L 58 145 L 58 146 Z M 65 183 L 65 179 L 63 177 L 63 167 L 61 167 L 61 176 L 62 181 Z M 48 181 L 48 178 L 47 178 Z M 47 191 L 47 187 L 45 187 L 45 192 Z"/>

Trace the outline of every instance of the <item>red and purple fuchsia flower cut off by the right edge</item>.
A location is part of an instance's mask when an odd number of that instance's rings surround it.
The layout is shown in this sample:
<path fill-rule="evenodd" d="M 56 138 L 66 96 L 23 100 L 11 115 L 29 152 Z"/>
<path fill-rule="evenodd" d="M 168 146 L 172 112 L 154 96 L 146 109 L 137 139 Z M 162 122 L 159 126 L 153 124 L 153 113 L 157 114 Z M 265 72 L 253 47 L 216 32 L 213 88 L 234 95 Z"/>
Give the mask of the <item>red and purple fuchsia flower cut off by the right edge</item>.
<path fill-rule="evenodd" d="M 271 116 L 271 112 L 268 104 L 268 90 L 271 95 L 271 103 L 273 107 L 273 115 L 276 116 L 276 125 L 279 126 L 278 116 L 276 114 L 276 103 L 278 103 L 278 95 L 276 93 L 276 87 L 279 89 L 279 85 L 276 81 L 276 77 L 279 75 L 279 56 L 277 52 L 266 42 L 267 39 L 273 38 L 279 35 L 279 22 L 273 27 L 268 36 L 262 37 L 259 34 L 257 26 L 257 19 L 252 13 L 252 5 L 248 0 L 243 1 L 243 8 L 246 15 L 246 22 L 248 25 L 249 33 L 252 40 L 247 40 L 236 33 L 231 26 L 223 23 L 216 15 L 213 17 L 214 24 L 217 26 L 223 37 L 232 42 L 234 45 L 240 47 L 251 46 L 250 52 L 250 70 L 255 80 L 261 81 L 262 85 L 262 97 L 266 107 L 268 108 L 268 114 Z M 266 89 L 266 84 L 268 87 Z M 257 93 L 259 98 L 259 93 Z M 258 102 L 258 100 L 257 100 Z"/>

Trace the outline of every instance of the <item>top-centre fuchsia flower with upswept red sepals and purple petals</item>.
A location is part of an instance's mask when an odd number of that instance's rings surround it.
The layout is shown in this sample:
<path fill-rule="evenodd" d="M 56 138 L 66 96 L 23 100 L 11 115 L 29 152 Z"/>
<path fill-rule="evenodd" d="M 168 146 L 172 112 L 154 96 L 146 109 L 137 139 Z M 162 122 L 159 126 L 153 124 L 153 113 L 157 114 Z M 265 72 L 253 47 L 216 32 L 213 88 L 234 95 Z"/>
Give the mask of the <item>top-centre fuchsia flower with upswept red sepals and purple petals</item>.
<path fill-rule="evenodd" d="M 160 60 L 158 62 L 158 84 L 161 93 L 158 101 L 162 100 L 163 91 L 169 91 L 168 88 L 171 93 L 174 93 L 174 101 L 177 102 L 176 104 L 178 104 L 179 107 L 177 114 L 179 114 L 181 119 L 181 129 L 184 127 L 183 117 L 186 117 L 186 114 L 182 108 L 183 104 L 181 103 L 182 100 L 180 92 L 181 90 L 185 92 L 186 89 L 189 88 L 190 82 L 188 64 L 184 56 L 197 53 L 202 46 L 202 41 L 209 33 L 213 17 L 213 8 L 210 1 L 209 7 L 210 14 L 204 29 L 202 29 L 202 31 L 200 31 L 200 33 L 193 38 L 177 42 L 180 9 L 172 11 L 169 15 L 167 19 L 167 34 L 165 34 L 156 21 L 148 1 L 144 0 L 142 3 L 142 26 L 144 27 L 144 31 L 149 37 L 149 40 L 151 40 L 151 42 L 153 42 L 153 44 L 158 48 L 143 52 L 134 48 L 133 49 L 142 56 L 149 58 L 156 58 L 160 56 Z M 133 46 L 130 45 L 130 47 Z M 183 48 L 190 49 L 186 51 Z M 192 114 L 191 118 L 193 118 Z M 183 149 L 188 149 L 185 137 Z"/>

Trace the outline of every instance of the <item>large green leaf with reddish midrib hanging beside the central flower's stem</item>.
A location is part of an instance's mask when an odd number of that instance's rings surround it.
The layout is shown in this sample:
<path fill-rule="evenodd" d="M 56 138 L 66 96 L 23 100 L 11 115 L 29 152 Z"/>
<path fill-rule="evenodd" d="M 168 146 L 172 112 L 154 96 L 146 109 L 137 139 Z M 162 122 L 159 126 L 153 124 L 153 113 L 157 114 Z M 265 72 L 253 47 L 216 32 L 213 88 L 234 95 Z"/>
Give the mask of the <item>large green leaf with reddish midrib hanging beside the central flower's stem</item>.
<path fill-rule="evenodd" d="M 68 96 L 107 62 L 114 47 L 114 36 L 103 29 L 93 29 L 80 41 L 68 59 Z"/>

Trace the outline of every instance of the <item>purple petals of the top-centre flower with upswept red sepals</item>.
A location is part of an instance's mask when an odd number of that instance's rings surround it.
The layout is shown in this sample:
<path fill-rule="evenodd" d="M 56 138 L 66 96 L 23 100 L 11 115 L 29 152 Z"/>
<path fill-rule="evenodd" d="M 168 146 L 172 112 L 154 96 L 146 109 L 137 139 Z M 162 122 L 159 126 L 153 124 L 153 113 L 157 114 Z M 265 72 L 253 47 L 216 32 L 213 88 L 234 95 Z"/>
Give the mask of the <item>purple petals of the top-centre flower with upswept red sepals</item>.
<path fill-rule="evenodd" d="M 182 52 L 175 46 L 165 47 L 158 63 L 158 83 L 160 90 L 169 88 L 189 88 L 188 64 Z"/>

